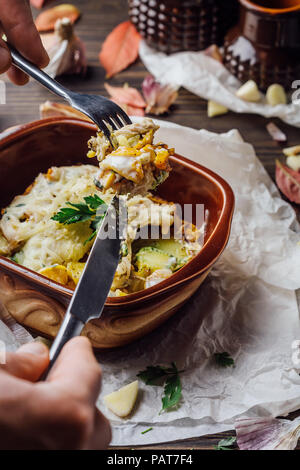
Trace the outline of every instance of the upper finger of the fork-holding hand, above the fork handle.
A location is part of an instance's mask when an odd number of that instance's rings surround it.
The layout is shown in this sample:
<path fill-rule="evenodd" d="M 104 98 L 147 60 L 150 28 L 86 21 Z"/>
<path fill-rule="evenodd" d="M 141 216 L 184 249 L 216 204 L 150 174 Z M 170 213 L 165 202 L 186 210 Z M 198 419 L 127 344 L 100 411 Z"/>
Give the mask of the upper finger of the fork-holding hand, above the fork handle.
<path fill-rule="evenodd" d="M 8 42 L 26 59 L 41 68 L 48 65 L 49 57 L 42 45 L 27 1 L 0 0 L 0 22 Z"/>

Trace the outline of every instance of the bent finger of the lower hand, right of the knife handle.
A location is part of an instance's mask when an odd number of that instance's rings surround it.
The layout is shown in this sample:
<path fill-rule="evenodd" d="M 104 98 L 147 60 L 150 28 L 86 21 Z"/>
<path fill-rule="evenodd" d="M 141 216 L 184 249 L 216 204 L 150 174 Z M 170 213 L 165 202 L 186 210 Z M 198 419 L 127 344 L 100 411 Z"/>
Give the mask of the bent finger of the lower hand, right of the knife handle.
<path fill-rule="evenodd" d="M 64 346 L 48 381 L 89 404 L 95 404 L 101 387 L 101 368 L 87 338 L 73 338 Z"/>

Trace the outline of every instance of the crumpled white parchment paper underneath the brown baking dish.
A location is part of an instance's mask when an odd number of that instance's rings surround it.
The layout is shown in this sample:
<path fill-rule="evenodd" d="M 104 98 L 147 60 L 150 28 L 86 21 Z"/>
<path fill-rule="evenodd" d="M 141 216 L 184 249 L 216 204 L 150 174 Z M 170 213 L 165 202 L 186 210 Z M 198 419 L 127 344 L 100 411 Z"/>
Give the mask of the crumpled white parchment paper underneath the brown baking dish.
<path fill-rule="evenodd" d="M 292 359 L 292 343 L 300 339 L 295 293 L 300 232 L 294 211 L 237 131 L 217 135 L 158 124 L 159 140 L 231 184 L 236 210 L 225 252 L 190 301 L 147 337 L 98 354 L 103 369 L 98 405 L 111 419 L 114 445 L 197 437 L 233 429 L 240 416 L 275 417 L 300 408 L 299 370 Z M 5 332 L 0 324 L 0 339 Z M 223 351 L 234 357 L 235 368 L 215 364 L 212 355 Z M 159 414 L 162 388 L 142 382 L 130 418 L 118 419 L 105 408 L 103 395 L 136 380 L 148 365 L 172 361 L 185 370 L 178 410 Z M 153 430 L 141 434 L 149 427 Z"/>

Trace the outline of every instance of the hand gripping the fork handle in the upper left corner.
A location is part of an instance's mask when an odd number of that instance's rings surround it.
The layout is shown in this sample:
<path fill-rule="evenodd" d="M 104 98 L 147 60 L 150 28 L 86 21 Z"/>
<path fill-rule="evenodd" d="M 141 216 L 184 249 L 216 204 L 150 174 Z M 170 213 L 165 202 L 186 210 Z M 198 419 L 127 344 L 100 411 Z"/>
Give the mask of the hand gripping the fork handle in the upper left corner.
<path fill-rule="evenodd" d="M 24 57 L 38 67 L 48 65 L 49 57 L 32 19 L 27 0 L 0 0 L 0 73 L 7 72 L 16 85 L 25 85 L 29 77 L 11 65 L 11 56 L 2 35 Z"/>

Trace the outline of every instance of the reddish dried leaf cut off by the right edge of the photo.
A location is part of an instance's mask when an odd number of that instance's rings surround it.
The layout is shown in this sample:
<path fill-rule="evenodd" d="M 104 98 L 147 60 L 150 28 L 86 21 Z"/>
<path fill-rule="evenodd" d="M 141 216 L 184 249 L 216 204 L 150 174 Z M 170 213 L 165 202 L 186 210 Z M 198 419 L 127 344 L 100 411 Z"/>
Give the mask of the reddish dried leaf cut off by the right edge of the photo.
<path fill-rule="evenodd" d="M 276 183 L 291 202 L 300 204 L 300 173 L 276 160 Z"/>

